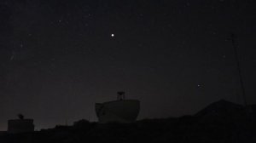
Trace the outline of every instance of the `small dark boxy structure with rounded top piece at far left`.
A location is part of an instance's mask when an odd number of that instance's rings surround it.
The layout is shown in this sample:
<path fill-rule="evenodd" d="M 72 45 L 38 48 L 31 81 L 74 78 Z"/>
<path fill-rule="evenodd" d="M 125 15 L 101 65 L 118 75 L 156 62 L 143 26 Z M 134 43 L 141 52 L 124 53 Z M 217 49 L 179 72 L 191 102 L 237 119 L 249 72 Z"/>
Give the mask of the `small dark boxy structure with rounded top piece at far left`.
<path fill-rule="evenodd" d="M 8 120 L 8 133 L 26 133 L 34 131 L 33 119 L 24 119 L 22 114 L 19 114 L 19 119 Z"/>

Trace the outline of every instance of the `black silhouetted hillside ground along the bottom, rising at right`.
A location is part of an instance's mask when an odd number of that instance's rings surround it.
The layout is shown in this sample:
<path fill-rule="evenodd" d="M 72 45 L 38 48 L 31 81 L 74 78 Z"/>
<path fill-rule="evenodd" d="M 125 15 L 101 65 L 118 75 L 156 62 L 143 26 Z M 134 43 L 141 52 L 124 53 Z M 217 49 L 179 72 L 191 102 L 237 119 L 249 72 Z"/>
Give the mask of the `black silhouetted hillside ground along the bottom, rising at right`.
<path fill-rule="evenodd" d="M 56 126 L 26 134 L 2 134 L 0 143 L 256 142 L 256 106 L 220 100 L 194 116 L 145 119 L 136 123 L 89 123 Z"/>

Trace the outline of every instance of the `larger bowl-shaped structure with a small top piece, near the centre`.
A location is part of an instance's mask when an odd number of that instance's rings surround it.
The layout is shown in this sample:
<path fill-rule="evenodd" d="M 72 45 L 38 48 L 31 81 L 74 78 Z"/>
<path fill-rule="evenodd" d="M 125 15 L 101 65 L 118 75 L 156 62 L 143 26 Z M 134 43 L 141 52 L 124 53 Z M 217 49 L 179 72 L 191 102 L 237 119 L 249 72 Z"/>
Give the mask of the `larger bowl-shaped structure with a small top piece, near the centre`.
<path fill-rule="evenodd" d="M 125 100 L 125 92 L 118 92 L 117 100 L 96 103 L 95 108 L 99 123 L 131 123 L 137 119 L 140 101 Z"/>

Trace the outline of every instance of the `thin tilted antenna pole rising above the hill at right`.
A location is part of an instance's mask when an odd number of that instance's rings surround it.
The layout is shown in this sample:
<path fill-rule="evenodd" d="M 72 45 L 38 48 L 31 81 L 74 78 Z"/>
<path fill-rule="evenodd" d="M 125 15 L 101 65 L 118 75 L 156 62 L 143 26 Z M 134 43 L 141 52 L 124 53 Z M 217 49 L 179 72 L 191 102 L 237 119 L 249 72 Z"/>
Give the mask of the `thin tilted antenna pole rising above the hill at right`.
<path fill-rule="evenodd" d="M 235 52 L 235 57 L 236 57 L 236 67 L 237 67 L 237 71 L 239 74 L 239 80 L 240 80 L 240 85 L 241 85 L 241 95 L 243 98 L 243 102 L 244 105 L 247 106 L 247 99 L 246 99 L 246 93 L 245 93 L 245 88 L 244 88 L 244 83 L 241 77 L 241 66 L 239 63 L 239 58 L 238 58 L 238 52 L 237 52 L 237 47 L 236 47 L 236 36 L 234 33 L 231 33 L 231 40 L 232 40 L 232 44 L 233 44 L 233 48 L 234 48 L 234 52 Z"/>

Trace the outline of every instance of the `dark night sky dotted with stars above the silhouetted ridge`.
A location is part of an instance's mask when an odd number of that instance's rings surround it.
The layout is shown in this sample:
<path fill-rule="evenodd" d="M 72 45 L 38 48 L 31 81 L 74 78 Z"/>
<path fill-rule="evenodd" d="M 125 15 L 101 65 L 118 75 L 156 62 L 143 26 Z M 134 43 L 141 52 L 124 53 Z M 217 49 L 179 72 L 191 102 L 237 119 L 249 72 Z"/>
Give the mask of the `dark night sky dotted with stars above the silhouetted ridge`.
<path fill-rule="evenodd" d="M 94 104 L 141 100 L 138 119 L 256 103 L 255 0 L 1 0 L 0 130 L 96 121 Z"/>

